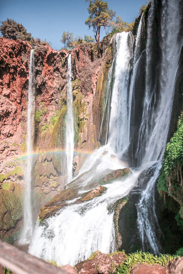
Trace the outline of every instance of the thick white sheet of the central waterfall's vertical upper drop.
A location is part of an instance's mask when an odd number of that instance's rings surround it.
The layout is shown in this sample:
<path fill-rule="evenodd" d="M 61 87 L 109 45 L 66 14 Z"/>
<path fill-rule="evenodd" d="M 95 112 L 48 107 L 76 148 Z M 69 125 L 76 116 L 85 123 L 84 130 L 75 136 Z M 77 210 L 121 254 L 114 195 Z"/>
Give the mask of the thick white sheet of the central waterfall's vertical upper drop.
<path fill-rule="evenodd" d="M 117 46 L 108 144 L 114 152 L 119 153 L 119 156 L 123 154 L 129 145 L 131 98 L 129 99 L 128 84 L 131 68 L 130 60 L 133 58 L 133 42 L 134 39 L 131 33 L 122 32 L 116 35 L 116 44 L 120 47 Z M 126 47 L 127 43 L 128 46 Z"/>

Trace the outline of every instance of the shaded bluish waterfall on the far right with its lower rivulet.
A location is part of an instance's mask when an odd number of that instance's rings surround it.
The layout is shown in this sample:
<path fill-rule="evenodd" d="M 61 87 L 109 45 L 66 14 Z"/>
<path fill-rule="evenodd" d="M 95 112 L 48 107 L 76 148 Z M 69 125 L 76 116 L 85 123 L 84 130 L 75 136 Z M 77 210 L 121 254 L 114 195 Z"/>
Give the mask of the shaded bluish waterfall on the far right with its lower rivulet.
<path fill-rule="evenodd" d="M 145 146 L 145 155 L 142 167 L 151 167 L 154 164 L 153 176 L 147 182 L 147 187 L 142 191 L 141 199 L 137 204 L 137 222 L 142 239 L 142 245 L 147 243 L 154 253 L 159 253 L 159 244 L 156 239 L 155 226 L 157 218 L 155 213 L 154 184 L 161 168 L 161 159 L 167 142 L 167 134 L 170 124 L 171 109 L 174 96 L 176 70 L 178 68 L 179 55 L 182 42 L 178 42 L 178 31 L 181 18 L 178 16 L 179 1 L 162 1 L 161 15 L 161 43 L 162 61 L 159 75 L 160 96 L 157 100 L 156 93 L 152 90 L 151 79 L 151 52 L 153 12 L 155 2 L 152 2 L 147 38 L 147 66 L 146 66 L 146 90 L 142 124 L 139 133 L 139 147 L 137 153 L 142 152 Z M 152 112 L 153 110 L 153 112 Z M 144 138 L 143 138 L 144 136 Z"/>

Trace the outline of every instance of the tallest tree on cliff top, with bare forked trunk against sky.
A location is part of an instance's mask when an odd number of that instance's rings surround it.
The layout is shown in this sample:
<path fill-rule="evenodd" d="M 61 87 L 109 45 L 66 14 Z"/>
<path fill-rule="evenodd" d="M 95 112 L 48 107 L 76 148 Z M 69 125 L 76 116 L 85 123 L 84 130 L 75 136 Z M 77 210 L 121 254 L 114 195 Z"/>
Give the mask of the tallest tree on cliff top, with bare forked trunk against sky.
<path fill-rule="evenodd" d="M 95 40 L 98 44 L 100 42 L 100 27 L 104 29 L 110 28 L 115 12 L 109 10 L 107 2 L 101 0 L 86 1 L 89 1 L 88 12 L 90 15 L 88 19 L 86 19 L 85 24 L 88 25 L 89 28 L 93 28 Z"/>

